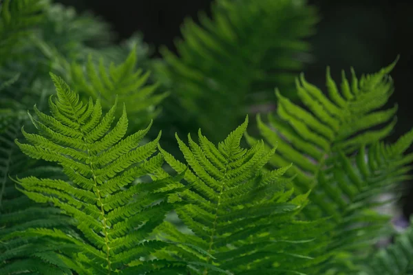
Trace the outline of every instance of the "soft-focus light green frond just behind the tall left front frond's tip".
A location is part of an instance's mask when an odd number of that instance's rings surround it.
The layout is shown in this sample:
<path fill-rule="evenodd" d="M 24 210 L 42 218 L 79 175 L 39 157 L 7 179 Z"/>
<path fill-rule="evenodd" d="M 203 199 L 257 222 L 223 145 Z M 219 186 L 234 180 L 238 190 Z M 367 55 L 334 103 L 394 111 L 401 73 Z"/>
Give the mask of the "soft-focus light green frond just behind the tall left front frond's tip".
<path fill-rule="evenodd" d="M 147 84 L 150 72 L 136 69 L 136 47 L 125 62 L 119 65 L 111 63 L 109 70 L 105 63 L 100 58 L 96 66 L 92 56 L 89 56 L 85 66 L 67 64 L 68 81 L 76 91 L 85 92 L 93 98 L 100 97 L 103 109 L 110 109 L 117 96 L 118 100 L 125 102 L 129 113 L 134 115 L 134 126 L 141 126 L 155 118 L 160 111 L 158 104 L 168 93 L 154 94 L 158 84 Z"/>

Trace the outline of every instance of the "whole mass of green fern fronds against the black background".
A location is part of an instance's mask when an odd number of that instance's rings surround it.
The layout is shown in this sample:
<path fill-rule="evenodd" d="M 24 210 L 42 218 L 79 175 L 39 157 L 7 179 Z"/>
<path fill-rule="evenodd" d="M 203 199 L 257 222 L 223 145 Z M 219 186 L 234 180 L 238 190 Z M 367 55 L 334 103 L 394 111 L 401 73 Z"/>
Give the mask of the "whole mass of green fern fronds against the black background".
<path fill-rule="evenodd" d="M 396 61 L 310 84 L 304 1 L 216 1 L 162 60 L 0 7 L 0 274 L 413 274 L 413 225 L 377 210 L 413 162 L 413 130 L 384 142 Z"/>

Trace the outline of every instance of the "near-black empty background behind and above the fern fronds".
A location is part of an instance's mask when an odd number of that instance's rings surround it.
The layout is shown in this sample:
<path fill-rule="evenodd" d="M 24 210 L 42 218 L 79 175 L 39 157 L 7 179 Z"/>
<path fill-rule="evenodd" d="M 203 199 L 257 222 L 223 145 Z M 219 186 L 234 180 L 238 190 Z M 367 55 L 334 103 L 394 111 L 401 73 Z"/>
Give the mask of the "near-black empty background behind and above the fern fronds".
<path fill-rule="evenodd" d="M 277 0 L 274 0 L 277 1 Z M 209 13 L 211 0 L 60 0 L 83 12 L 92 11 L 112 23 L 118 41 L 134 32 L 141 32 L 144 41 L 158 47 L 166 45 L 174 50 L 173 40 L 180 36 L 184 17 L 196 20 L 199 10 Z M 354 67 L 357 74 L 377 72 L 381 67 L 401 58 L 391 73 L 395 93 L 392 102 L 398 102 L 396 137 L 413 126 L 413 0 L 405 1 L 349 1 L 315 0 L 321 17 L 317 34 L 310 39 L 313 62 L 306 67 L 306 78 L 319 87 L 324 86 L 327 65 L 332 76 L 339 78 L 341 69 Z M 412 152 L 413 150 L 410 150 Z M 402 200 L 406 217 L 413 213 L 413 181 Z"/>

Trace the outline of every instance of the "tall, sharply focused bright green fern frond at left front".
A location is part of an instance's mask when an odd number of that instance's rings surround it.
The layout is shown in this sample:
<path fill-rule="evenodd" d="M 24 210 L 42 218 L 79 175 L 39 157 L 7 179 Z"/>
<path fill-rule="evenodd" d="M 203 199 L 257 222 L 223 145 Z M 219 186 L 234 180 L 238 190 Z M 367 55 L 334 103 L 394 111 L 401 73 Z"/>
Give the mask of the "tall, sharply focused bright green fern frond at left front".
<path fill-rule="evenodd" d="M 161 274 L 157 270 L 162 267 L 184 269 L 180 262 L 149 261 L 152 252 L 165 246 L 150 241 L 149 235 L 171 210 L 167 198 L 179 186 L 159 173 L 162 155 L 151 157 L 160 135 L 138 146 L 150 125 L 124 138 L 125 106 L 112 127 L 116 104 L 102 115 L 99 99 L 83 104 L 62 78 L 52 74 L 52 79 L 57 91 L 56 98 L 49 100 L 52 115 L 34 106 L 37 120 L 32 122 L 39 133 L 22 129 L 29 143 L 16 143 L 34 159 L 58 163 L 68 179 L 30 176 L 17 181 L 30 199 L 50 202 L 74 217 L 80 235 L 74 238 L 56 229 L 25 233 L 72 241 L 81 252 L 76 257 L 63 252 L 60 259 L 78 274 Z M 148 175 L 156 180 L 136 181 Z"/>

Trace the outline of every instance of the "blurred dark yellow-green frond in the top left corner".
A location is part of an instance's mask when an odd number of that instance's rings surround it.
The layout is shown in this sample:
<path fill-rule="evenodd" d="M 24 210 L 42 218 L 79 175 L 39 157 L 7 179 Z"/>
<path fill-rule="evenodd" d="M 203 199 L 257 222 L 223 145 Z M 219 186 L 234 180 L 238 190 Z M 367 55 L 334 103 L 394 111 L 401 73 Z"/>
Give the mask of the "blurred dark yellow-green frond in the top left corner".
<path fill-rule="evenodd" d="M 0 3 L 0 65 L 44 17 L 43 0 L 4 0 Z"/>

